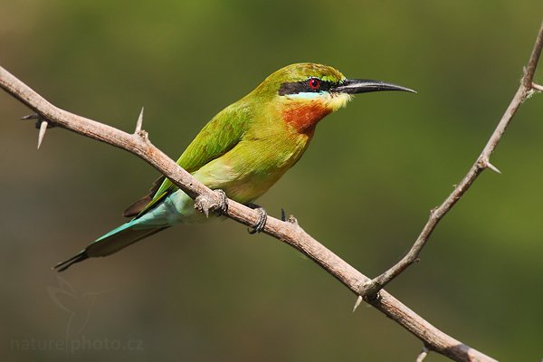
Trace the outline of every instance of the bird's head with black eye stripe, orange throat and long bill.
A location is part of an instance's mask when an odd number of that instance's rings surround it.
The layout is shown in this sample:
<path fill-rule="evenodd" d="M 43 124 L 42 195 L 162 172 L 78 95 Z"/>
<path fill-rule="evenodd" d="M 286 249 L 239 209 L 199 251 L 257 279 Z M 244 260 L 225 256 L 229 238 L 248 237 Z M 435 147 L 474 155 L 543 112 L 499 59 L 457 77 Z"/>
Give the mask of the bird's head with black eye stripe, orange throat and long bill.
<path fill-rule="evenodd" d="M 329 113 L 345 107 L 353 94 L 379 90 L 414 92 L 384 81 L 347 79 L 328 65 L 302 62 L 275 71 L 253 94 L 271 101 L 281 111 L 282 119 L 306 132 Z"/>

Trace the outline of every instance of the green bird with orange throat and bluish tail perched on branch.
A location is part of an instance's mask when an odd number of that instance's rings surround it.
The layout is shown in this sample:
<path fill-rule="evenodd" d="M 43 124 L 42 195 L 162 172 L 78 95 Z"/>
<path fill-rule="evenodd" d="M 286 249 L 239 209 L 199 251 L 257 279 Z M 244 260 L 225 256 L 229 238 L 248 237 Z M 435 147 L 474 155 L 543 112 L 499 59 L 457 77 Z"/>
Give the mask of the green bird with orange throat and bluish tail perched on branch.
<path fill-rule="evenodd" d="M 312 62 L 274 71 L 241 100 L 217 113 L 177 160 L 205 186 L 252 205 L 293 167 L 310 145 L 321 119 L 345 107 L 354 94 L 383 90 L 415 92 L 393 83 L 348 79 L 335 68 Z M 224 205 L 223 205 L 224 206 Z M 260 232 L 266 213 L 253 232 Z M 161 176 L 148 195 L 124 211 L 128 223 L 105 233 L 53 269 L 107 256 L 174 224 L 203 222 L 195 202 Z"/>

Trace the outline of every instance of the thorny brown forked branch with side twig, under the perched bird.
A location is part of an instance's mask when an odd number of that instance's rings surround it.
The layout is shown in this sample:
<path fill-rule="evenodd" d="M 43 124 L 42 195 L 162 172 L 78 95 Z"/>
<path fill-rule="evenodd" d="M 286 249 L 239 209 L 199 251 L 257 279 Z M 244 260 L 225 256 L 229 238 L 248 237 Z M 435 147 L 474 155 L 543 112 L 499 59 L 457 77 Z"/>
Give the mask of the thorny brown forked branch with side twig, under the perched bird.
<path fill-rule="evenodd" d="M 363 298 L 367 300 L 368 304 L 384 313 L 386 317 L 395 320 L 396 323 L 414 334 L 414 336 L 419 338 L 424 344 L 424 356 L 427 350 L 432 350 L 443 356 L 450 357 L 455 361 L 495 361 L 493 358 L 482 354 L 478 350 L 470 348 L 462 342 L 448 336 L 440 329 L 436 329 L 432 324 L 414 313 L 413 310 L 410 310 L 399 300 L 396 300 L 391 294 L 379 290 L 381 285 L 392 280 L 401 271 L 405 270 L 409 264 L 416 260 L 418 253 L 424 246 L 424 243 L 426 243 L 435 225 L 443 218 L 443 215 L 451 209 L 452 205 L 454 205 L 465 193 L 467 188 L 472 185 L 473 180 L 484 168 L 492 168 L 489 163 L 489 157 L 500 140 L 503 131 L 509 124 L 510 118 L 515 110 L 518 109 L 522 100 L 525 100 L 528 97 L 529 93 L 541 89 L 540 86 L 532 85 L 532 79 L 542 44 L 543 24 L 538 33 L 538 41 L 534 47 L 532 56 L 530 57 L 529 65 L 522 80 L 522 85 L 506 111 L 506 115 L 504 116 L 505 120 L 502 119 L 500 121 L 498 128 L 489 140 L 487 147 L 484 148 L 481 153 L 481 157 L 478 158 L 477 162 L 470 170 L 470 173 L 462 180 L 462 183 L 455 189 L 452 195 L 445 200 L 445 203 L 433 210 L 432 216 L 428 221 L 428 224 L 424 227 L 421 237 L 417 239 L 413 251 L 406 255 L 405 262 L 403 264 L 400 262 L 399 266 L 393 267 L 390 273 L 386 272 L 384 274 L 385 276 L 377 277 L 375 281 L 369 280 L 367 276 L 343 261 L 335 253 L 330 252 L 329 249 L 313 239 L 310 234 L 306 233 L 297 223 L 292 222 L 291 220 L 281 221 L 268 216 L 262 232 L 267 233 L 284 243 L 288 243 L 295 249 L 306 254 L 311 260 L 319 264 L 321 268 L 328 271 L 337 278 L 338 281 L 341 281 L 347 286 L 350 291 L 353 291 L 357 295 L 362 295 Z M 141 129 L 142 113 L 138 119 L 136 132 L 134 134 L 129 134 L 53 106 L 2 67 L 0 67 L 0 87 L 37 113 L 38 121 L 42 120 L 42 123 L 38 123 L 40 129 L 43 128 L 40 132 L 42 134 L 40 137 L 41 139 L 43 139 L 44 129 L 46 129 L 46 126 L 43 125 L 43 123 L 46 122 L 48 126 L 60 126 L 85 137 L 94 138 L 117 148 L 125 149 L 130 153 L 141 157 L 152 167 L 157 168 L 160 173 L 171 179 L 172 182 L 185 191 L 187 195 L 190 195 L 193 198 L 197 196 L 200 196 L 201 198 L 205 197 L 209 205 L 214 207 L 221 205 L 222 200 L 220 195 L 195 180 L 195 178 L 188 174 L 186 170 L 179 167 L 176 162 L 150 143 L 147 132 Z M 257 210 L 252 210 L 233 200 L 228 200 L 228 210 L 225 210 L 223 214 L 248 226 L 256 224 L 260 216 Z M 390 277 L 389 274 L 391 274 L 392 277 Z M 375 285 L 377 287 L 375 287 Z M 376 292 L 378 292 L 378 297 Z M 421 353 L 419 359 L 424 356 L 423 353 Z"/>

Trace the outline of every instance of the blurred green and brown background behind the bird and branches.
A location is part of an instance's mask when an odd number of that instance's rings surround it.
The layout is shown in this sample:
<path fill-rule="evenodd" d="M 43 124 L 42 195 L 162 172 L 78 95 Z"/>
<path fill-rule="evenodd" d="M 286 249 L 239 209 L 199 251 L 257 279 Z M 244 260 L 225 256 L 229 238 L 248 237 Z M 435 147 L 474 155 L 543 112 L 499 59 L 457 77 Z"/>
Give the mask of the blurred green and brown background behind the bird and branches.
<path fill-rule="evenodd" d="M 369 276 L 410 247 L 465 174 L 519 84 L 540 0 L 7 1 L 0 64 L 62 109 L 176 158 L 208 119 L 292 62 L 418 94 L 357 96 L 259 200 Z M 543 67 L 543 64 L 541 64 Z M 538 81 L 543 81 L 539 71 Z M 51 266 L 123 222 L 157 172 L 52 129 L 0 92 L 0 359 L 414 360 L 421 343 L 338 281 L 232 221 L 159 233 L 62 273 Z M 543 356 L 543 96 L 522 105 L 492 163 L 387 289 L 503 360 Z M 79 346 L 79 348 L 78 348 Z M 66 350 L 66 349 L 69 350 Z M 429 361 L 444 357 L 431 355 Z"/>

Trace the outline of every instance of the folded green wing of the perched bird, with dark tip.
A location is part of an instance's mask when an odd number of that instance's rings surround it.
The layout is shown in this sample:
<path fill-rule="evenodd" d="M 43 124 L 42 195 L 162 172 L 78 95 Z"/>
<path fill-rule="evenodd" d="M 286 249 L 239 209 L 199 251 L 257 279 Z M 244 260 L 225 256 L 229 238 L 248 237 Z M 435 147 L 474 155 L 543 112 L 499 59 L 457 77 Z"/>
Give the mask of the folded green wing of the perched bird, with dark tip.
<path fill-rule="evenodd" d="M 248 112 L 247 107 L 237 103 L 219 112 L 188 145 L 177 160 L 177 164 L 192 174 L 231 150 L 238 144 L 247 129 L 248 119 L 250 119 Z M 149 194 L 129 205 L 123 216 L 145 214 L 176 189 L 177 186 L 165 176 L 159 177 L 149 190 Z"/>

